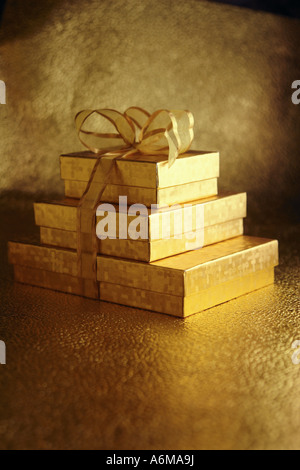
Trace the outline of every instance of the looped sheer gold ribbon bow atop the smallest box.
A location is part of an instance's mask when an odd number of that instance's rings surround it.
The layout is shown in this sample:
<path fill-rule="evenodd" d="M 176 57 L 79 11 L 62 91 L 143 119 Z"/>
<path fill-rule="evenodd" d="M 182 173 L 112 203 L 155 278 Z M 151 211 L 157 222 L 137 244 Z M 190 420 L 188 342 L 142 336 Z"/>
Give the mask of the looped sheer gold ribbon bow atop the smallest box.
<path fill-rule="evenodd" d="M 110 122 L 117 133 L 83 129 L 86 121 L 95 116 Z M 138 107 L 128 108 L 123 114 L 114 109 L 88 109 L 76 115 L 75 125 L 80 142 L 96 154 L 168 155 L 169 167 L 190 148 L 194 138 L 193 114 L 183 110 L 161 109 L 150 115 Z"/>

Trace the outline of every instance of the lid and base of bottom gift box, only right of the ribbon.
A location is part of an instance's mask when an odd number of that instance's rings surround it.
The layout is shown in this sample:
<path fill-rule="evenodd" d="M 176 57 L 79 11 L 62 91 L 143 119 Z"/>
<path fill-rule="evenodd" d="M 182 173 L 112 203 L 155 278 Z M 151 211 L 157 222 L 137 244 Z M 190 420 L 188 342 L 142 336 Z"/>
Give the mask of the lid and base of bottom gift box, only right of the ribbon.
<path fill-rule="evenodd" d="M 278 242 L 238 237 L 146 264 L 100 256 L 100 299 L 187 317 L 274 282 Z"/>

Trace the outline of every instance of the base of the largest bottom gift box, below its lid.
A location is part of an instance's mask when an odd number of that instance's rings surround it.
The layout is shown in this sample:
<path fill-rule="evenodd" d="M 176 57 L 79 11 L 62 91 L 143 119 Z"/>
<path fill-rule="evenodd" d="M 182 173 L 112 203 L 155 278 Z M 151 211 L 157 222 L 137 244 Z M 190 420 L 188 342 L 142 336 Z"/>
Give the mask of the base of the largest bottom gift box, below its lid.
<path fill-rule="evenodd" d="M 20 265 L 14 266 L 14 275 L 15 280 L 23 284 L 75 295 L 81 295 L 82 282 L 85 283 L 85 289 L 88 289 L 88 284 L 92 282 L 66 274 L 58 274 Z M 118 285 L 112 286 L 112 284 L 106 283 L 100 285 L 102 287 L 102 300 L 177 317 L 187 317 L 193 313 L 201 312 L 269 286 L 273 282 L 274 269 L 269 268 L 205 289 L 199 294 L 185 298 Z"/>

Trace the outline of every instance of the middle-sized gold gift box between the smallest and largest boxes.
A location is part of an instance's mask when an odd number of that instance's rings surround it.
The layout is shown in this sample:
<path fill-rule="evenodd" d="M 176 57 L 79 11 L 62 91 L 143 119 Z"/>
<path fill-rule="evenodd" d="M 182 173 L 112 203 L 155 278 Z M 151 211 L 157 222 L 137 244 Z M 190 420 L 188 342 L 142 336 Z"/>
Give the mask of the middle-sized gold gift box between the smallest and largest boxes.
<path fill-rule="evenodd" d="M 41 227 L 41 243 L 62 248 L 77 248 L 77 204 L 76 200 L 65 200 L 60 203 L 44 202 L 34 205 L 36 224 Z M 197 241 L 200 245 L 206 246 L 237 237 L 243 234 L 246 204 L 245 193 L 217 196 L 195 202 L 189 205 L 187 213 L 189 224 L 186 231 L 184 208 L 160 209 L 155 213 L 148 211 L 146 229 L 144 233 L 142 231 L 141 239 L 99 240 L 98 252 L 150 262 L 191 250 Z M 203 233 L 197 230 L 199 227 L 196 217 L 199 208 L 203 209 Z M 117 211 L 117 222 L 118 209 L 118 206 L 114 208 Z M 127 232 L 134 218 L 132 216 L 127 218 Z M 169 227 L 169 231 L 166 227 Z M 118 229 L 117 225 L 117 237 L 119 237 Z M 164 236 L 165 234 L 170 235 L 170 238 Z"/>

